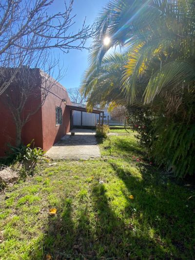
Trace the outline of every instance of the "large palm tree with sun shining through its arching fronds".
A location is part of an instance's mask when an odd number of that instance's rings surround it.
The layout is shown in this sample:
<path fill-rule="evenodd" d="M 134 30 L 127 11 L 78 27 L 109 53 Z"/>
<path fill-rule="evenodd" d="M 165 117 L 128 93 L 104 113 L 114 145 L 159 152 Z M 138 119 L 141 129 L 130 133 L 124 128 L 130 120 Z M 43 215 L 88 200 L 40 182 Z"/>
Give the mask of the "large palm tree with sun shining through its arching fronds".
<path fill-rule="evenodd" d="M 110 0 L 96 22 L 82 83 L 88 107 L 98 102 L 150 106 L 161 115 L 157 128 L 166 130 L 158 140 L 166 136 L 164 147 L 175 147 L 170 148 L 176 154 L 172 164 L 189 157 L 182 171 L 189 170 L 193 159 L 188 151 L 195 151 L 195 2 Z M 116 46 L 125 52 L 109 54 Z M 192 133 L 188 138 L 184 128 Z M 184 136 L 190 141 L 180 145 Z M 163 154 L 164 147 L 155 143 L 153 151 Z M 194 170 L 195 164 L 190 172 Z"/>

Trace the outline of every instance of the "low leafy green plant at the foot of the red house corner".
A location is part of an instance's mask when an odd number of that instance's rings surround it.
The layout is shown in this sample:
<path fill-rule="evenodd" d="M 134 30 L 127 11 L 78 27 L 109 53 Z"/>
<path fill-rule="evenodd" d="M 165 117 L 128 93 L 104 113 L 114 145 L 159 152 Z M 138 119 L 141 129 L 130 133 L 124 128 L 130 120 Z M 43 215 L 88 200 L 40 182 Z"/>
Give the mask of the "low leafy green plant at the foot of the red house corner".
<path fill-rule="evenodd" d="M 19 147 L 9 145 L 11 152 L 9 153 L 8 161 L 33 161 L 44 159 L 43 155 L 45 152 L 41 148 L 33 147 L 31 148 L 34 140 L 32 140 L 27 145 L 20 144 Z"/>

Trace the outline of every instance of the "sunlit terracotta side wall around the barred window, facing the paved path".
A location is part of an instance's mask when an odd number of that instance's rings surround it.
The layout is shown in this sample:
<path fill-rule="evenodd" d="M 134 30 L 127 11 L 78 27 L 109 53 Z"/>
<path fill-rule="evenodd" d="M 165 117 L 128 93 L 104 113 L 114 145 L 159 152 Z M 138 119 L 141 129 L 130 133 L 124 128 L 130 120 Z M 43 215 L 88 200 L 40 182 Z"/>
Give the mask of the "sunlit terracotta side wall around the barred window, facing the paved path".
<path fill-rule="evenodd" d="M 42 106 L 43 149 L 48 150 L 61 137 L 70 131 L 70 109 L 62 99 L 71 105 L 66 89 L 59 83 L 54 84 Z M 62 124 L 56 125 L 56 107 L 62 108 Z"/>

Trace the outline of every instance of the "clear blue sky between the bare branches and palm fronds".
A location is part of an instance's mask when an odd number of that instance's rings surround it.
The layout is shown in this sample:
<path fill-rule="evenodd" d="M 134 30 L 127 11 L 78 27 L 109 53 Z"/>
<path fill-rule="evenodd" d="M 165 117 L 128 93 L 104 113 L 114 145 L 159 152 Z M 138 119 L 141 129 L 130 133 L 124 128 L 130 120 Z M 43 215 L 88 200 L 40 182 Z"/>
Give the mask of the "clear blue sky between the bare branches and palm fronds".
<path fill-rule="evenodd" d="M 86 17 L 86 23 L 92 24 L 96 19 L 101 8 L 108 2 L 108 0 L 75 0 L 73 5 L 73 15 L 77 14 L 75 18 L 76 24 L 73 30 L 82 26 L 82 22 Z M 60 7 L 63 6 L 63 0 L 54 1 L 54 12 L 62 11 Z M 88 44 L 90 41 L 88 41 Z M 60 80 L 60 83 L 65 88 L 79 87 L 81 77 L 88 66 L 88 51 L 71 50 L 68 54 L 63 54 L 56 50 L 54 54 L 60 54 L 60 63 L 64 64 L 64 69 L 67 69 L 65 77 Z"/>

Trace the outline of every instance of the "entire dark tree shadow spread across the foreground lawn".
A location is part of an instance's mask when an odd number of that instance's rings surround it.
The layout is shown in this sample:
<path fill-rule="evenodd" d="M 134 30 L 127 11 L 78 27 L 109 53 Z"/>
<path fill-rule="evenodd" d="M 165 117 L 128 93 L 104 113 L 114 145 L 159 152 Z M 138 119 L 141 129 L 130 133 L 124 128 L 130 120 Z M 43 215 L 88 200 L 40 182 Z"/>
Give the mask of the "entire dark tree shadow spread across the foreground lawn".
<path fill-rule="evenodd" d="M 193 224 L 188 223 L 192 216 L 178 213 L 183 206 L 176 202 L 182 199 L 176 198 L 178 192 L 160 184 L 152 168 L 141 168 L 138 178 L 117 163 L 110 162 L 116 181 L 126 188 L 117 187 L 119 193 L 115 194 L 114 182 L 93 180 L 86 196 L 75 197 L 77 212 L 73 200 L 62 202 L 61 210 L 48 220 L 42 258 L 50 254 L 55 260 L 193 259 L 186 235 L 193 232 Z M 130 194 L 134 200 L 129 199 Z M 120 203 L 121 197 L 126 202 L 118 214 L 120 205 L 115 202 Z M 31 259 L 41 258 L 34 254 Z"/>

